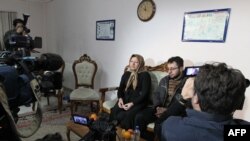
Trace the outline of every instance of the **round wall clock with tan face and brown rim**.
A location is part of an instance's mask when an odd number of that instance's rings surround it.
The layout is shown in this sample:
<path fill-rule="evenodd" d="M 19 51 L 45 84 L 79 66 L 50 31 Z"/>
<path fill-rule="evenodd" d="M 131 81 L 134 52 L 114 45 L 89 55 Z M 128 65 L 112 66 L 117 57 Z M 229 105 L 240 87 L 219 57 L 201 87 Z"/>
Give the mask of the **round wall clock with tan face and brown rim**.
<path fill-rule="evenodd" d="M 155 3 L 153 0 L 143 0 L 137 8 L 137 16 L 142 21 L 149 21 L 155 14 Z"/>

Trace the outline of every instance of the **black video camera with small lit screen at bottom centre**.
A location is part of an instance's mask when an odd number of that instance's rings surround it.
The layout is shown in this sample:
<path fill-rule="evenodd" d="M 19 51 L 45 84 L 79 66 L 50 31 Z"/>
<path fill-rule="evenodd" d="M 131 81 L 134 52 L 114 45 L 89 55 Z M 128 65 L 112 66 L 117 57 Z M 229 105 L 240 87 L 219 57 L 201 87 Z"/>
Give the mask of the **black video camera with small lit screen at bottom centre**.
<path fill-rule="evenodd" d="M 89 119 L 86 116 L 73 114 L 74 123 L 87 126 L 89 132 L 80 141 L 116 141 L 116 122 L 109 122 L 108 118 L 101 115 L 97 120 Z"/>

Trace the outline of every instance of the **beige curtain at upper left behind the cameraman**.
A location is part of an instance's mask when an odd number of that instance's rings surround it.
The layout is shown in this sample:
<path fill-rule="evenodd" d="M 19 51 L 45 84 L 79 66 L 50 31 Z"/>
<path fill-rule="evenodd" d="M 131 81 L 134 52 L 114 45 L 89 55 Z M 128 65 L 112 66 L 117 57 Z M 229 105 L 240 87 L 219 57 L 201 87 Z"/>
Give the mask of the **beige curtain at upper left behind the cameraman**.
<path fill-rule="evenodd" d="M 4 50 L 3 36 L 5 32 L 13 29 L 13 20 L 16 19 L 17 12 L 0 11 L 0 50 Z"/>

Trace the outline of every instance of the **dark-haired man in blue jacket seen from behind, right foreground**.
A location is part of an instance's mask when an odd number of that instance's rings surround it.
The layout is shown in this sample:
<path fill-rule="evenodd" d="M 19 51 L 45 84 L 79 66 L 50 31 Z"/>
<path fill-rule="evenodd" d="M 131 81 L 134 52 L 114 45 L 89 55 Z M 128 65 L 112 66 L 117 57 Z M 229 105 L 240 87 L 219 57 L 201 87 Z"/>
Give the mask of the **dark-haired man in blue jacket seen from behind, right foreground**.
<path fill-rule="evenodd" d="M 222 141 L 223 125 L 250 124 L 233 119 L 233 113 L 242 108 L 247 85 L 243 74 L 225 63 L 201 66 L 181 93 L 182 103 L 191 98 L 192 109 L 186 109 L 187 117 L 171 116 L 164 121 L 161 140 Z"/>

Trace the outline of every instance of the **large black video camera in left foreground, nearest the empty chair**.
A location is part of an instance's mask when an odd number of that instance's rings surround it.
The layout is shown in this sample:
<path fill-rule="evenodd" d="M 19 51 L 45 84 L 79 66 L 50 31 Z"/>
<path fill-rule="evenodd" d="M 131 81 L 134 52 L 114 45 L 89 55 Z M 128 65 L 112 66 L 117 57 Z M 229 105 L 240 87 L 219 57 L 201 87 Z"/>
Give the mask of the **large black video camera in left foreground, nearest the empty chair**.
<path fill-rule="evenodd" d="M 1 55 L 0 56 L 5 56 Z M 37 81 L 38 86 L 35 91 L 44 93 L 43 90 L 51 89 L 54 85 L 43 85 L 55 82 L 55 85 L 62 86 L 62 74 L 57 75 L 57 80 L 51 75 L 46 80 L 38 80 L 39 72 L 44 70 L 55 71 L 64 63 L 61 56 L 53 53 L 44 53 L 40 58 L 37 57 L 17 57 L 15 55 L 5 56 L 0 60 L 0 82 L 4 86 L 5 93 L 8 98 L 10 110 L 13 116 L 17 117 L 19 106 L 29 105 L 36 101 L 34 90 L 31 88 L 31 81 Z M 43 81 L 44 80 L 44 81 Z M 50 80 L 54 80 L 50 82 Z M 47 88 L 47 87 L 50 88 Z M 3 113 L 0 111 L 0 113 Z M 0 115 L 1 117 L 2 115 Z"/>

